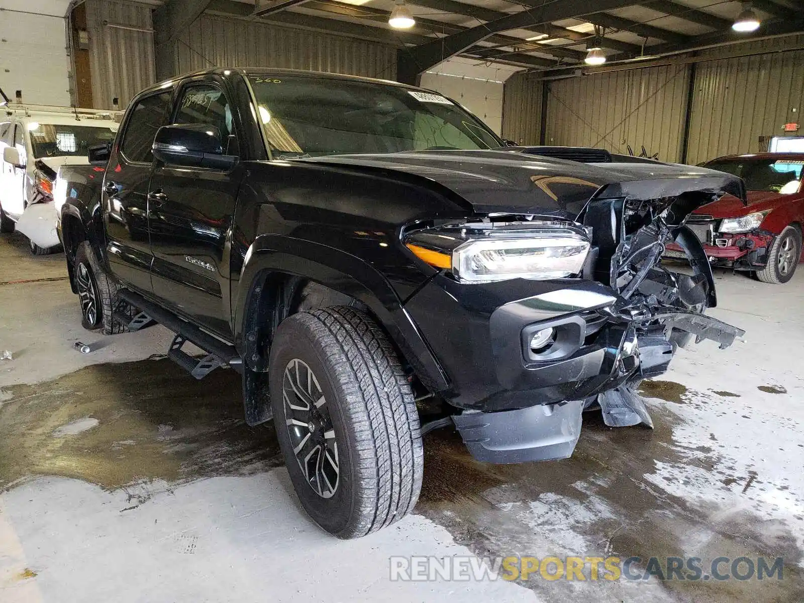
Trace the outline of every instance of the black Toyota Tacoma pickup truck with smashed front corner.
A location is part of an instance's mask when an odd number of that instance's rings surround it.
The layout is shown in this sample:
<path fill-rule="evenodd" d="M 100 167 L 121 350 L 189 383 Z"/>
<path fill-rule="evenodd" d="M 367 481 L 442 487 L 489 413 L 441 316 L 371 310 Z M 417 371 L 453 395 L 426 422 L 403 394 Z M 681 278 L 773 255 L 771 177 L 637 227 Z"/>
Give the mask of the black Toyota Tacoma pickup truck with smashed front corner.
<path fill-rule="evenodd" d="M 159 322 L 196 378 L 240 371 L 245 420 L 273 417 L 301 503 L 342 538 L 411 511 L 429 429 L 481 461 L 568 457 L 583 410 L 650 425 L 641 379 L 742 334 L 704 316 L 684 225 L 745 199 L 739 178 L 506 146 L 436 92 L 215 68 L 138 94 L 90 159 L 56 184 L 84 326 Z M 691 269 L 661 265 L 668 241 Z"/>

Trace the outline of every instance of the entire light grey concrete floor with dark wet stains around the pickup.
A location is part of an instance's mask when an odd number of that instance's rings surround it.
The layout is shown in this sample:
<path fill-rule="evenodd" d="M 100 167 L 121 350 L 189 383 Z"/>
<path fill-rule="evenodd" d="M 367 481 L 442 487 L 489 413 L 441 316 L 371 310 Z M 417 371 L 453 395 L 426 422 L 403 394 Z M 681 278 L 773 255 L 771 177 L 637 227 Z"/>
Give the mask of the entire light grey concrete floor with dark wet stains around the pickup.
<path fill-rule="evenodd" d="M 195 381 L 160 356 L 160 326 L 83 330 L 63 255 L 2 236 L 0 258 L 3 603 L 804 601 L 804 269 L 785 286 L 716 275 L 711 314 L 747 343 L 680 351 L 644 390 L 654 431 L 588 413 L 572 459 L 519 466 L 431 433 L 414 515 L 343 542 L 301 511 L 273 427 L 244 425 L 238 375 Z M 420 555 L 785 566 L 781 581 L 389 580 L 389 556 Z"/>

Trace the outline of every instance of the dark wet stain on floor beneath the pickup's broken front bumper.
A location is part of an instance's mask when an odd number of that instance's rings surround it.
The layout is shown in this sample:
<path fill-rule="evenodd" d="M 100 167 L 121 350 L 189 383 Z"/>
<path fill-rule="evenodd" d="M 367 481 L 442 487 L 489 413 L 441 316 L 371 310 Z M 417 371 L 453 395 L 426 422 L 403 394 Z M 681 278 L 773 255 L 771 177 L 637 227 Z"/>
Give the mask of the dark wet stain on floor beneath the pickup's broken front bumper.
<path fill-rule="evenodd" d="M 713 480 L 723 476 L 724 494 L 731 483 L 744 483 L 745 493 L 760 482 L 755 472 L 730 478 L 733 467 L 724 467 L 711 448 L 675 445 L 672 426 L 679 418 L 656 405 L 650 413 L 653 431 L 610 429 L 599 412 L 587 412 L 572 457 L 544 463 L 478 463 L 457 433 L 430 433 L 416 512 L 445 526 L 478 556 L 639 556 L 643 568 L 651 556 L 662 564 L 668 556 L 697 556 L 704 565 L 718 556 L 766 556 L 771 563 L 781 556 L 781 581 L 674 580 L 658 588 L 671 600 L 695 603 L 804 601 L 798 567 L 804 553 L 788 526 L 761 518 L 749 505 L 720 508 L 679 498 L 646 478 L 662 463 L 712 474 Z M 572 601 L 653 600 L 634 599 L 633 583 L 587 581 L 570 589 L 566 581 L 536 578 L 522 584 L 547 601 L 566 601 L 568 593 Z"/>

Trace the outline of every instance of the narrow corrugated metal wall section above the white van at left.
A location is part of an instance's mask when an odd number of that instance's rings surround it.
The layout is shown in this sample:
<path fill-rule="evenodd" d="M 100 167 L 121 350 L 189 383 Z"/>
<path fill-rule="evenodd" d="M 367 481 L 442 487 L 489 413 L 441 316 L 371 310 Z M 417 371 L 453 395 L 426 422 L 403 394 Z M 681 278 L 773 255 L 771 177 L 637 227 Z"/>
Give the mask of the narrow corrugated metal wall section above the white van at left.
<path fill-rule="evenodd" d="M 151 6 L 110 0 L 87 0 L 92 101 L 112 109 L 117 96 L 125 109 L 132 96 L 154 83 L 154 34 L 114 27 L 151 30 Z"/>

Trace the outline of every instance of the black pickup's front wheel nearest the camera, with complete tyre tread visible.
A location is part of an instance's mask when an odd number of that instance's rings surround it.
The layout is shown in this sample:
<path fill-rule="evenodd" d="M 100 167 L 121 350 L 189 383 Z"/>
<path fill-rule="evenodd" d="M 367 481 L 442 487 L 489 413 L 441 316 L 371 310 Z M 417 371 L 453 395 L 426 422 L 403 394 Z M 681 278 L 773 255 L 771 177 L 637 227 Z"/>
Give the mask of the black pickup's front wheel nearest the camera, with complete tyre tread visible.
<path fill-rule="evenodd" d="M 416 402 L 367 314 L 337 306 L 286 318 L 269 389 L 293 488 L 319 526 L 359 538 L 412 510 L 424 470 Z"/>

